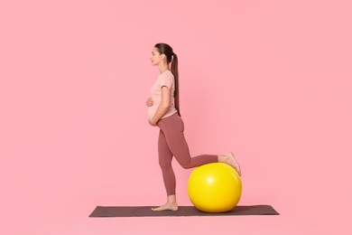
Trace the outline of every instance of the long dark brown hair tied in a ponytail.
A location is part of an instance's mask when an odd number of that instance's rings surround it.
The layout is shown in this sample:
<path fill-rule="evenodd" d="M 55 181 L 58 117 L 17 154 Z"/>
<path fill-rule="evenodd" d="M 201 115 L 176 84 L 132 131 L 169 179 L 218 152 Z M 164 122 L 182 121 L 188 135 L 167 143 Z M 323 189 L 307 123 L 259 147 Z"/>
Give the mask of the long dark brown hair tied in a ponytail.
<path fill-rule="evenodd" d="M 177 109 L 177 112 L 181 116 L 180 113 L 180 96 L 179 96 L 179 68 L 178 68 L 178 58 L 177 55 L 172 51 L 172 48 L 170 45 L 166 43 L 157 43 L 154 46 L 156 49 L 158 49 L 158 52 L 161 54 L 164 54 L 166 56 L 166 61 L 168 64 L 171 63 L 171 72 L 173 74 L 173 77 L 175 77 L 175 93 L 173 94 L 174 99 L 175 99 L 175 108 Z"/>

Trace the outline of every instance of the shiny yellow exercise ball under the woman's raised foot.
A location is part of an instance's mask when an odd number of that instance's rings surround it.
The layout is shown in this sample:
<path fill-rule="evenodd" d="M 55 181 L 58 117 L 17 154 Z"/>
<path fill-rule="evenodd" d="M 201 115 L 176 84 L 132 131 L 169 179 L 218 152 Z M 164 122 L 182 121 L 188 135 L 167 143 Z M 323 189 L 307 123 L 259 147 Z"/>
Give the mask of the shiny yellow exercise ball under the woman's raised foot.
<path fill-rule="evenodd" d="M 231 211 L 241 198 L 242 182 L 228 164 L 203 164 L 190 174 L 188 193 L 199 211 Z"/>

